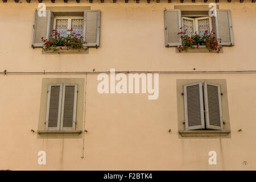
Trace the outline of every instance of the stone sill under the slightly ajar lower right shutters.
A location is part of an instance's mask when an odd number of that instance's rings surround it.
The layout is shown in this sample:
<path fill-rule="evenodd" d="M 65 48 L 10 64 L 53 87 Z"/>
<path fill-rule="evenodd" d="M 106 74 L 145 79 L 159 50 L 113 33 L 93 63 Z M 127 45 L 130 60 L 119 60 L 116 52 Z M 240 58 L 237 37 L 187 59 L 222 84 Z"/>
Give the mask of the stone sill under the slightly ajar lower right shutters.
<path fill-rule="evenodd" d="M 229 130 L 188 130 L 179 131 L 182 137 L 227 137 Z"/>

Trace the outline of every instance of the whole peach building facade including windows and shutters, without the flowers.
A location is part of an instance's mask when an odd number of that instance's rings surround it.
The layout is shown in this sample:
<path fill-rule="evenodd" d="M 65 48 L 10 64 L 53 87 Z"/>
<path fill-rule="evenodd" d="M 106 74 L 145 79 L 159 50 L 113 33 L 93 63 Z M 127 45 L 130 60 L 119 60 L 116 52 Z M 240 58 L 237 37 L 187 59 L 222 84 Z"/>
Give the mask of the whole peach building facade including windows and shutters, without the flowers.
<path fill-rule="evenodd" d="M 254 2 L 2 2 L 0 169 L 255 170 Z"/>

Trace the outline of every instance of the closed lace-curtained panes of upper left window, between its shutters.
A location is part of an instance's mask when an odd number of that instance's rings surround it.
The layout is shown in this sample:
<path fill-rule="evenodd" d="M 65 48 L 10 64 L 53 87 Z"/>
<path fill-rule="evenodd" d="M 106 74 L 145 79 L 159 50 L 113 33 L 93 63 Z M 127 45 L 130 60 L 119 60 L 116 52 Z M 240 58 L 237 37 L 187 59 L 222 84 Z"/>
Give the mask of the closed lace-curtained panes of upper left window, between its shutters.
<path fill-rule="evenodd" d="M 82 36 L 84 18 L 82 17 L 57 17 L 53 22 L 53 29 L 61 36 L 67 37 L 68 30 L 73 28 L 73 32 Z"/>

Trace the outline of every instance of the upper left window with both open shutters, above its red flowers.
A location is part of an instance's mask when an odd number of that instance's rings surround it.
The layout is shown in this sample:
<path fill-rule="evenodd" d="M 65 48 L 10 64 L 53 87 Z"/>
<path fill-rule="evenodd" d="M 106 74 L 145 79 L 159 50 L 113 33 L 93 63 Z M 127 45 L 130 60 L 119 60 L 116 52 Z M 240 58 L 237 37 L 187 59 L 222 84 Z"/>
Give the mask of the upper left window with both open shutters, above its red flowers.
<path fill-rule="evenodd" d="M 35 11 L 34 34 L 32 47 L 43 47 L 42 37 L 49 40 L 51 31 L 56 29 L 61 35 L 67 36 L 68 29 L 84 37 L 84 47 L 100 46 L 100 10 L 81 12 Z"/>

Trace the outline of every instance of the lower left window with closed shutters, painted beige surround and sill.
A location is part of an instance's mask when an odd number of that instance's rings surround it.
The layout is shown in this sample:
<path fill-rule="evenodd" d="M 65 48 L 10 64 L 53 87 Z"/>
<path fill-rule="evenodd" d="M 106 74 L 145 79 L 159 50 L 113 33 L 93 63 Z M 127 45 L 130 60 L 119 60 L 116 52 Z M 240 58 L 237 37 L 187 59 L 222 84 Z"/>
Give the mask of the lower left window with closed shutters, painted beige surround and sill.
<path fill-rule="evenodd" d="M 43 78 L 38 137 L 81 138 L 84 78 Z"/>

